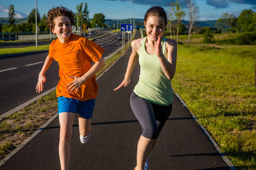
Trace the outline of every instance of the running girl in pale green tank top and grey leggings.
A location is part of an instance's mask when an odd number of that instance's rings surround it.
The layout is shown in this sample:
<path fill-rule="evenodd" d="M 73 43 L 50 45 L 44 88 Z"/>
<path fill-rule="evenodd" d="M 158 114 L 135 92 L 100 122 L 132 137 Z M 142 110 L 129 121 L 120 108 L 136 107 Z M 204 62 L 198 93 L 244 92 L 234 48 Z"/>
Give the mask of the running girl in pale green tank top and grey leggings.
<path fill-rule="evenodd" d="M 176 70 L 177 44 L 164 38 L 167 17 L 164 8 L 154 6 L 146 11 L 144 25 L 146 37 L 132 41 L 132 54 L 122 83 L 114 89 L 127 86 L 139 61 L 141 72 L 134 87 L 130 104 L 142 125 L 142 135 L 137 146 L 136 170 L 147 169 L 147 158 L 159 132 L 169 118 L 172 108 L 171 79 Z"/>

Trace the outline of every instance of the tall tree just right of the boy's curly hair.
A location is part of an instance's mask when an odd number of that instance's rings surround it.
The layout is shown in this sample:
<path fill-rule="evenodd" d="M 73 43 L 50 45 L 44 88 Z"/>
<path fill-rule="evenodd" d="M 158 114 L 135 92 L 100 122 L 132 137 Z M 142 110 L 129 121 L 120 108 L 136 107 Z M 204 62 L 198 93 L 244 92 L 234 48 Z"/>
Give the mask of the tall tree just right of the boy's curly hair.
<path fill-rule="evenodd" d="M 84 8 L 83 8 L 84 7 Z M 75 26 L 87 26 L 87 28 L 90 27 L 90 18 L 89 18 L 89 13 L 90 11 L 88 10 L 88 5 L 87 2 L 85 2 L 85 5 L 81 2 L 76 6 L 77 13 L 75 13 Z"/>

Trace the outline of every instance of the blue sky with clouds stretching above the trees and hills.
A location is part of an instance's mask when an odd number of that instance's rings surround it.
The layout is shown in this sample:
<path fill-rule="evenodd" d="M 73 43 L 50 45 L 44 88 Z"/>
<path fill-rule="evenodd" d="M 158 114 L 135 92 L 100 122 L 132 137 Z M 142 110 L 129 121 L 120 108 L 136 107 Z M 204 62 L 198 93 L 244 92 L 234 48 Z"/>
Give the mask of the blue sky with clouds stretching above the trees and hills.
<path fill-rule="evenodd" d="M 144 18 L 151 6 L 162 6 L 168 11 L 168 4 L 176 0 L 37 0 L 38 12 L 42 17 L 53 6 L 65 6 L 73 12 L 81 2 L 87 2 L 90 18 L 103 13 L 105 19 Z M 179 0 L 185 4 L 187 0 Z M 199 8 L 198 21 L 217 20 L 223 13 L 239 16 L 244 9 L 256 12 L 256 0 L 193 0 Z M 0 17 L 8 17 L 9 6 L 14 5 L 15 18 L 26 18 L 36 6 L 36 0 L 1 0 Z M 187 20 L 186 18 L 184 18 Z"/>

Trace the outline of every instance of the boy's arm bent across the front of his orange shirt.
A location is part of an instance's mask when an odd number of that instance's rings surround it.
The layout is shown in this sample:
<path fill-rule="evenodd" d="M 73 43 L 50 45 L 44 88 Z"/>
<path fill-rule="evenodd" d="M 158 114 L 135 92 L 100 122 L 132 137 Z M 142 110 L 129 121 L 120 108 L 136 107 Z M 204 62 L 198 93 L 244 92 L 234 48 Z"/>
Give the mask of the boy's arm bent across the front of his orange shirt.
<path fill-rule="evenodd" d="M 72 79 L 74 79 L 74 81 L 72 81 L 70 84 L 68 84 L 66 87 L 70 86 L 68 88 L 68 91 L 73 91 L 76 88 L 76 92 L 78 91 L 78 89 L 80 88 L 80 86 L 82 86 L 82 84 L 87 81 L 87 79 L 90 79 L 92 76 L 94 76 L 97 72 L 100 71 L 100 69 L 102 69 L 102 67 L 105 65 L 104 60 L 102 59 L 102 57 L 100 57 L 100 59 L 95 62 L 95 64 L 92 66 L 92 68 L 90 68 L 88 70 L 88 72 L 86 72 L 82 77 L 70 77 Z"/>

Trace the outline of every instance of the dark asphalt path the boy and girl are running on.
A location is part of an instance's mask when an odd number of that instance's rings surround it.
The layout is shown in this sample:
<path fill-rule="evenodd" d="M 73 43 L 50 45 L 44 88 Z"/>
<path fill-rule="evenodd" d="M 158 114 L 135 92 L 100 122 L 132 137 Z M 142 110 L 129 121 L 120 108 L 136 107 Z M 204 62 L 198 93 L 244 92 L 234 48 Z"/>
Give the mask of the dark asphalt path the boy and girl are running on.
<path fill-rule="evenodd" d="M 87 145 L 80 143 L 78 118 L 75 118 L 70 169 L 134 169 L 141 127 L 129 106 L 129 96 L 137 83 L 139 67 L 134 69 L 129 86 L 113 92 L 124 77 L 130 53 L 129 49 L 126 55 L 97 79 L 100 89 L 92 118 L 92 137 Z M 56 118 L 3 166 L 0 166 L 0 169 L 60 169 L 58 140 L 59 123 Z M 229 168 L 186 108 L 174 96 L 173 112 L 150 154 L 149 169 Z"/>

